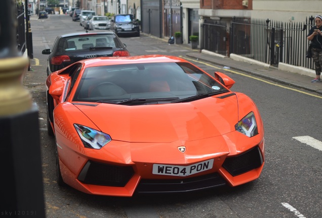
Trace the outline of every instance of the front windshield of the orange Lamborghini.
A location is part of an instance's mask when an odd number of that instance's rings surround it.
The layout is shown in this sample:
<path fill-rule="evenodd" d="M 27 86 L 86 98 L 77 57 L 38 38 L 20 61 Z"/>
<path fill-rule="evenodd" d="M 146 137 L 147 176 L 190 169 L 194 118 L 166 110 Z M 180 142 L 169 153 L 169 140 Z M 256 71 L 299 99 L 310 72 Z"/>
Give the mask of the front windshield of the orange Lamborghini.
<path fill-rule="evenodd" d="M 127 64 L 87 68 L 73 100 L 155 104 L 223 92 L 228 90 L 189 63 Z"/>

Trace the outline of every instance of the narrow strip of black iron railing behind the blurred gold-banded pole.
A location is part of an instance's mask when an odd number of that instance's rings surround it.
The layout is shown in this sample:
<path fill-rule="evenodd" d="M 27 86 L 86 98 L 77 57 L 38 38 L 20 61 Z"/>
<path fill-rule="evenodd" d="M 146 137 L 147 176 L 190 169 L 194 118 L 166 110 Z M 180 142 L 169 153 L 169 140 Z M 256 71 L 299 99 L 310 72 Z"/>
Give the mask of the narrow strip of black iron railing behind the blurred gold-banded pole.
<path fill-rule="evenodd" d="M 26 50 L 25 11 L 24 6 L 17 6 L 17 48 L 22 53 Z"/>

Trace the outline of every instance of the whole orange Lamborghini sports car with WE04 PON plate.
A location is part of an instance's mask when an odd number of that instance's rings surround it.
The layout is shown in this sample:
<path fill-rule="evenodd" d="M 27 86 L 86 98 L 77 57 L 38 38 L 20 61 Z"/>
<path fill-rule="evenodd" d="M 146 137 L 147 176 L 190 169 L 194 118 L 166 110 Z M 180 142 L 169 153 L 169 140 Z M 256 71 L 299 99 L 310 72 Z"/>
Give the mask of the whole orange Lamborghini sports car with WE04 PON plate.
<path fill-rule="evenodd" d="M 257 179 L 264 128 L 253 100 L 172 56 L 96 58 L 49 75 L 57 182 L 89 194 L 188 192 Z"/>

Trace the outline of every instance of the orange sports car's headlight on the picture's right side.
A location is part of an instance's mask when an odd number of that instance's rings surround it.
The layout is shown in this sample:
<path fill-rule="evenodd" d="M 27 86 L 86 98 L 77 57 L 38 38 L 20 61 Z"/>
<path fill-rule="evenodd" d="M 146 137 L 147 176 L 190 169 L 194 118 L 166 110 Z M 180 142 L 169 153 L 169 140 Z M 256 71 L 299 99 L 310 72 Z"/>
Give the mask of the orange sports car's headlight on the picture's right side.
<path fill-rule="evenodd" d="M 257 123 L 254 112 L 246 115 L 235 125 L 235 130 L 241 132 L 248 137 L 252 137 L 258 134 Z"/>

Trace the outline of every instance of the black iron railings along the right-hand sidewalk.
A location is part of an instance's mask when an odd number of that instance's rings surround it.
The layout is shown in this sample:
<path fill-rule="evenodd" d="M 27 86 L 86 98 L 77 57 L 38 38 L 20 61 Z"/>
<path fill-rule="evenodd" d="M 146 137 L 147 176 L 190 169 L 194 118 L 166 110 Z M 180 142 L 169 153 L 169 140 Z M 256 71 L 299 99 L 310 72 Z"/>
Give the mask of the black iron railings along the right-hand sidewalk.
<path fill-rule="evenodd" d="M 309 45 L 306 35 L 313 21 L 313 17 L 302 23 L 234 17 L 227 30 L 223 22 L 205 20 L 201 48 L 226 56 L 234 53 L 272 66 L 283 62 L 313 69 L 312 60 L 305 57 Z"/>

